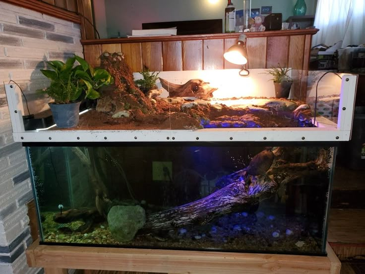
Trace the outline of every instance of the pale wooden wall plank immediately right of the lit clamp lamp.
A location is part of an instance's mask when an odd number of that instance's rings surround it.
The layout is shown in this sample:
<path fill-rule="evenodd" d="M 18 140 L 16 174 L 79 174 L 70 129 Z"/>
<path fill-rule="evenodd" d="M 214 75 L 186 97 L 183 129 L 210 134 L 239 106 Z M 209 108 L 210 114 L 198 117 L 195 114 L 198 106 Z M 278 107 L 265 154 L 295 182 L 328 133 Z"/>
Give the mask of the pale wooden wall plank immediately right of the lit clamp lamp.
<path fill-rule="evenodd" d="M 267 37 L 247 38 L 248 69 L 266 68 Z"/>

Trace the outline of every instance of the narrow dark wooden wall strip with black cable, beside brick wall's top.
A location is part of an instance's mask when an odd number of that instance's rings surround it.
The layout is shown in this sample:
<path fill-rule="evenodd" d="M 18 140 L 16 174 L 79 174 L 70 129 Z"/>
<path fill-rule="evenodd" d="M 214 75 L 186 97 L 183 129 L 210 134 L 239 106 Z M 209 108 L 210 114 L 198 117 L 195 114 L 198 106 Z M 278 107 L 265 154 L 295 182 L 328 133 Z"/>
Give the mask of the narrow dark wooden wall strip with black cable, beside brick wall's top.
<path fill-rule="evenodd" d="M 81 39 L 95 39 L 94 27 L 90 24 L 93 23 L 93 12 L 91 0 L 77 0 L 77 10 L 81 16 Z M 89 19 L 90 22 L 88 22 Z"/>

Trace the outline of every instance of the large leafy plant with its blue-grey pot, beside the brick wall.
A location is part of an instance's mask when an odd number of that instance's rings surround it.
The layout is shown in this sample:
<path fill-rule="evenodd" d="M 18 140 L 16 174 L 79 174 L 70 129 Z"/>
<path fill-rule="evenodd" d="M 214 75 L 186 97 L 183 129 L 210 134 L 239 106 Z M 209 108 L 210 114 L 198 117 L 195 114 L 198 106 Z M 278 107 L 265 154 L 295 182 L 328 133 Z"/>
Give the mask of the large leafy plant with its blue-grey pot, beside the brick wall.
<path fill-rule="evenodd" d="M 75 62 L 79 65 L 75 66 Z M 94 69 L 79 56 L 70 57 L 66 63 L 61 61 L 47 62 L 51 69 L 41 72 L 51 80 L 50 86 L 40 90 L 48 94 L 54 102 L 49 103 L 57 127 L 72 128 L 79 122 L 79 98 L 96 99 L 100 87 L 113 81 L 105 69 Z M 82 99 L 82 98 L 81 98 Z"/>

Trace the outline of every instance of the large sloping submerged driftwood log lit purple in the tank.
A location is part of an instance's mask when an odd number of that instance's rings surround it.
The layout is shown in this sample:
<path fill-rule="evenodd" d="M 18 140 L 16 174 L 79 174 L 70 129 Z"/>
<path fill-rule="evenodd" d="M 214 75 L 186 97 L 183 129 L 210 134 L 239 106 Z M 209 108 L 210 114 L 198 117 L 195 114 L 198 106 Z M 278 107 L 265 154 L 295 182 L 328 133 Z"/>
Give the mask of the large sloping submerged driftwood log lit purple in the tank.
<path fill-rule="evenodd" d="M 328 170 L 327 152 L 319 151 L 316 160 L 305 163 L 288 163 L 283 158 L 287 148 L 278 147 L 272 151 L 274 159 L 267 171 L 261 175 L 251 175 L 249 170 L 255 166 L 267 165 L 270 157 L 254 157 L 249 166 L 231 175 L 224 176 L 222 188 L 195 202 L 147 215 L 142 231 L 167 230 L 188 224 L 206 224 L 222 215 L 239 211 L 245 206 L 255 205 L 272 197 L 278 190 L 294 179 L 317 175 Z M 289 148 L 292 149 L 292 148 Z M 268 155 L 268 154 L 267 154 Z M 260 157 L 263 156 L 263 157 Z M 255 163 L 252 163 L 256 160 Z M 259 161 L 263 162 L 260 163 Z M 258 162 L 257 162 L 258 161 Z M 262 173 L 262 171 L 261 171 Z"/>

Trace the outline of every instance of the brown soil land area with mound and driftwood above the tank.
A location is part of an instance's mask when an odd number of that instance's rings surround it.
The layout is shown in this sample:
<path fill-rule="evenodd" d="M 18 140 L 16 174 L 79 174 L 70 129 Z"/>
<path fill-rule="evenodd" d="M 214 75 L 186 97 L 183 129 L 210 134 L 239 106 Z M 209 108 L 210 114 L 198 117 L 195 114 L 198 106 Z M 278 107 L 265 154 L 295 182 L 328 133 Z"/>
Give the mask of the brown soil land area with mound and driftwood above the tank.
<path fill-rule="evenodd" d="M 202 79 L 178 85 L 160 78 L 169 91 L 142 92 L 121 53 L 105 52 L 100 67 L 114 77 L 101 90 L 96 108 L 80 117 L 71 130 L 154 130 L 202 128 L 312 127 L 310 107 L 284 98 L 244 97 L 214 99 L 217 89 Z"/>

